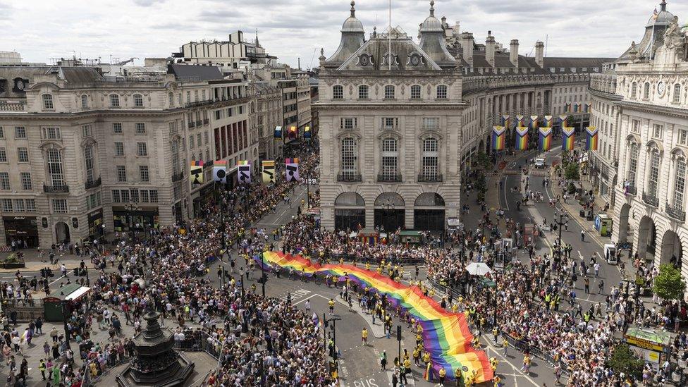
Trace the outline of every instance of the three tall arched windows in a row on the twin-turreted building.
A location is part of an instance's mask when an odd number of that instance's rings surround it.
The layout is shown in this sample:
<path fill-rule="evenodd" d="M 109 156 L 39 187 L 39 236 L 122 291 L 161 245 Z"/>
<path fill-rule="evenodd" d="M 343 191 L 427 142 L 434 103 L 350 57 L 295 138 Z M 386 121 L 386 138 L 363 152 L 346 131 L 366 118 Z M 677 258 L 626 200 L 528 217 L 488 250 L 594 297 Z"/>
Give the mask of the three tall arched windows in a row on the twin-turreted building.
<path fill-rule="evenodd" d="M 399 144 L 393 137 L 387 137 L 381 143 L 381 173 L 385 178 L 394 178 L 399 174 Z M 341 171 L 345 178 L 358 174 L 358 142 L 355 138 L 345 137 L 341 141 Z M 425 178 L 436 178 L 439 166 L 438 140 L 429 137 L 422 142 L 421 170 Z"/>

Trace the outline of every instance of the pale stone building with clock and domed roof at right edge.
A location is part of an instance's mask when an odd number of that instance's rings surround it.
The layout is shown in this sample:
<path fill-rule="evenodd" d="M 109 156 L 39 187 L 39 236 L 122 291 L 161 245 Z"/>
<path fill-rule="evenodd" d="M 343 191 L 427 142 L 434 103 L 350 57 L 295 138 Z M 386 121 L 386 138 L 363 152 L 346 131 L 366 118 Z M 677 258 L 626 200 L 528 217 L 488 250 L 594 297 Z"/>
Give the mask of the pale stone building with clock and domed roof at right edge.
<path fill-rule="evenodd" d="M 612 238 L 649 262 L 680 266 L 686 278 L 687 51 L 688 38 L 663 1 L 641 42 L 590 85 L 593 121 L 617 129 L 606 135 L 618 160 Z M 604 149 L 596 156 L 608 159 Z"/>

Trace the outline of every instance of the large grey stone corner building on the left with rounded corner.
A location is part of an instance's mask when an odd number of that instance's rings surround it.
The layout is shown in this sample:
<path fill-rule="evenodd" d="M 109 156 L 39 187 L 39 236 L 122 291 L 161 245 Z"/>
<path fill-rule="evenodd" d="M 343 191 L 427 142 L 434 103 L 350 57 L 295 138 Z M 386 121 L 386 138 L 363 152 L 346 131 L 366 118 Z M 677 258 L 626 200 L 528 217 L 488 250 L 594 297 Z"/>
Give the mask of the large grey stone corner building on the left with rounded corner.
<path fill-rule="evenodd" d="M 191 185 L 191 160 L 220 149 L 230 165 L 257 161 L 245 83 L 186 67 L 109 78 L 92 67 L 0 66 L 0 245 L 170 225 L 209 194 L 212 163 L 206 183 Z M 223 128 L 241 140 L 220 144 Z"/>

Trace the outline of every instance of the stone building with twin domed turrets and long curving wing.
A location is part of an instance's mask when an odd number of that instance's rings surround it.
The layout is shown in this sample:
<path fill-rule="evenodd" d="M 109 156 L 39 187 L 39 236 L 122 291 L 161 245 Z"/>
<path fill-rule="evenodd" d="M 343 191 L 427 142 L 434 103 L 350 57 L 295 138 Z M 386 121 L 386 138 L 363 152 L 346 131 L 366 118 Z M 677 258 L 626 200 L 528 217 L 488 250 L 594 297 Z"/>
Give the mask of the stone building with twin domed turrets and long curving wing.
<path fill-rule="evenodd" d="M 477 43 L 436 18 L 434 1 L 418 43 L 398 27 L 366 39 L 354 5 L 338 49 L 321 55 L 314 104 L 326 228 L 443 231 L 500 116 L 567 114 L 587 125 L 587 84 L 608 59 L 546 57 L 542 42 L 520 56 L 517 40 L 505 49 L 491 32 Z"/>

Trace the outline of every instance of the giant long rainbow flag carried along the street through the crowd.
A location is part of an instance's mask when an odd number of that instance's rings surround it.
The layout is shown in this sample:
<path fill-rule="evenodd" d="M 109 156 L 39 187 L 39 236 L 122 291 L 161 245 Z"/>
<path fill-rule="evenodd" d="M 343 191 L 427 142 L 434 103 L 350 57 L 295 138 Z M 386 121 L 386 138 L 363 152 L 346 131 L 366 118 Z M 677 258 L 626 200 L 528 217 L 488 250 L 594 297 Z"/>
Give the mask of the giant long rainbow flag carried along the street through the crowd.
<path fill-rule="evenodd" d="M 392 307 L 401 307 L 418 321 L 423 328 L 423 346 L 430 353 L 435 374 L 444 367 L 448 379 L 456 379 L 457 371 L 462 371 L 464 380 L 475 371 L 478 383 L 490 381 L 494 377 L 486 353 L 474 350 L 471 345 L 473 335 L 465 314 L 443 309 L 438 302 L 424 295 L 418 286 L 403 285 L 375 271 L 357 266 L 321 265 L 300 255 L 281 252 L 264 252 L 263 258 L 258 258 L 257 261 L 264 268 L 278 266 L 302 271 L 307 276 L 315 273 L 331 275 L 336 276 L 338 281 L 345 281 L 348 276 L 349 281 L 386 295 Z"/>

